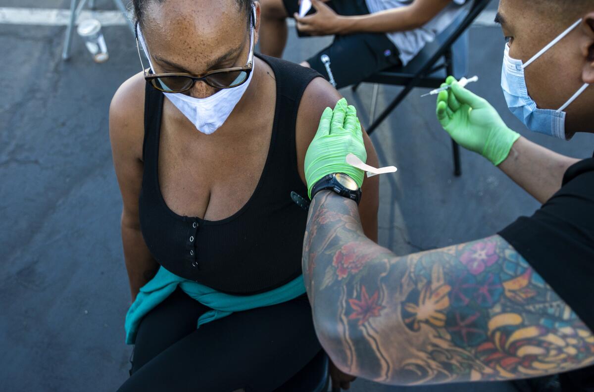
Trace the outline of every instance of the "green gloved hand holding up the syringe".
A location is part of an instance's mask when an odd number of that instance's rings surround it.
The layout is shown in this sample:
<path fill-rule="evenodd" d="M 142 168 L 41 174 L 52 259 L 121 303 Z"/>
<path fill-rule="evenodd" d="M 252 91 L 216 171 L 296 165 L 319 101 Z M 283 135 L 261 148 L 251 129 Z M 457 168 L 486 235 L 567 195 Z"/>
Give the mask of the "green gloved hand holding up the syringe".
<path fill-rule="evenodd" d="M 447 84 L 450 89 L 437 96 L 437 119 L 441 126 L 460 146 L 499 165 L 520 135 L 507 128 L 485 99 L 460 86 L 453 76 L 448 76 L 441 86 Z"/>

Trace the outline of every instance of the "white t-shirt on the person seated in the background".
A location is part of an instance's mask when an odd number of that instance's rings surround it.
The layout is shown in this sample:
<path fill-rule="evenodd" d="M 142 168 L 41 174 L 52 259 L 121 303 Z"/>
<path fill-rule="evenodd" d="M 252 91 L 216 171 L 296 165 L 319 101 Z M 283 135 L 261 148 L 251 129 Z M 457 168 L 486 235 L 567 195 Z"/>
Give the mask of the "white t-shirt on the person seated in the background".
<path fill-rule="evenodd" d="M 391 10 L 392 8 L 404 7 L 410 5 L 413 0 L 365 0 L 369 12 L 380 12 Z M 462 12 L 462 7 L 466 0 L 452 0 L 441 12 L 435 15 L 424 26 L 415 30 L 396 31 L 394 33 L 386 33 L 388 39 L 396 45 L 400 51 L 400 61 L 406 65 L 427 42 L 431 42 L 435 37 L 444 31 L 450 23 L 456 19 L 458 14 Z"/>

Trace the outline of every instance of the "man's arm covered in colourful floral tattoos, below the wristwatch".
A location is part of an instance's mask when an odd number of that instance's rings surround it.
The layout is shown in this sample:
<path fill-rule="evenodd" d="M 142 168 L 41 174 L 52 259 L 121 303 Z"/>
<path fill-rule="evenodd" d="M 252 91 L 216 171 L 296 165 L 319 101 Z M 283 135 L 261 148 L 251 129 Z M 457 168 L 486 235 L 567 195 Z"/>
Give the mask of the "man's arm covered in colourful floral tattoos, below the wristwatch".
<path fill-rule="evenodd" d="M 505 380 L 594 362 L 594 336 L 500 236 L 397 257 L 365 237 L 356 204 L 309 208 L 304 277 L 342 371 L 386 384 Z"/>

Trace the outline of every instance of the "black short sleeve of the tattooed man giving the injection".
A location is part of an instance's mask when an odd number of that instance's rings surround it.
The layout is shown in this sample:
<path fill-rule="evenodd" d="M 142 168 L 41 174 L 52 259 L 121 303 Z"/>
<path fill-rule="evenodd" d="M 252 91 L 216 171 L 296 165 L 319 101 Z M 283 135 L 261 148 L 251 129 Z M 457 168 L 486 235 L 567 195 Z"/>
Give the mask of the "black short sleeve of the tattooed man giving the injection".
<path fill-rule="evenodd" d="M 594 159 L 567 169 L 560 191 L 499 235 L 594 331 Z"/>

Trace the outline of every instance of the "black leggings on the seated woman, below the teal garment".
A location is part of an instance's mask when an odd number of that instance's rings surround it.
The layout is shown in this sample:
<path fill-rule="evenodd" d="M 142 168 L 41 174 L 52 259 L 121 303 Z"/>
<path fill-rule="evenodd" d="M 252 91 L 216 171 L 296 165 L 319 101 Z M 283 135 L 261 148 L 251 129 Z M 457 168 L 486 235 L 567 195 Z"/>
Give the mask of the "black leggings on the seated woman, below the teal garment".
<path fill-rule="evenodd" d="M 201 325 L 208 311 L 176 289 L 138 327 L 127 391 L 273 391 L 320 351 L 306 296 Z"/>

